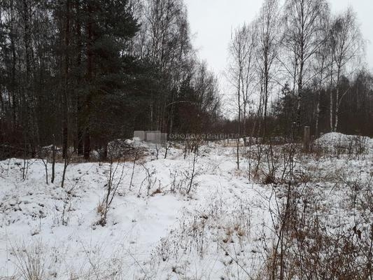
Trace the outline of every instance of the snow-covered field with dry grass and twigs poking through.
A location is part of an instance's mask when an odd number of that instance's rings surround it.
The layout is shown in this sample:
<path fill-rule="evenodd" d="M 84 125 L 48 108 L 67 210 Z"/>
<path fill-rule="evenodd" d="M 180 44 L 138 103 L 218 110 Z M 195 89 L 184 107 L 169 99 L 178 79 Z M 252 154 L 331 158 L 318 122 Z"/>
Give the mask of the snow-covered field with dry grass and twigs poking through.
<path fill-rule="evenodd" d="M 328 141 L 316 142 L 330 146 Z M 61 188 L 60 163 L 55 183 L 47 184 L 41 160 L 4 160 L 0 279 L 31 279 L 28 267 L 36 267 L 41 279 L 266 279 L 290 184 L 291 201 L 302 210 L 295 216 L 304 223 L 317 218 L 326 235 L 344 232 L 369 241 L 370 148 L 338 155 L 291 149 L 241 147 L 237 170 L 233 145 L 204 144 L 190 183 L 193 153 L 184 158 L 183 147 L 175 146 L 167 159 L 161 149 L 156 160 L 150 147 L 135 165 L 114 163 L 118 192 L 104 226 L 97 209 L 110 178 L 108 163 L 69 165 Z M 358 231 L 360 239 L 353 236 Z M 287 252 L 289 260 L 296 255 Z"/>

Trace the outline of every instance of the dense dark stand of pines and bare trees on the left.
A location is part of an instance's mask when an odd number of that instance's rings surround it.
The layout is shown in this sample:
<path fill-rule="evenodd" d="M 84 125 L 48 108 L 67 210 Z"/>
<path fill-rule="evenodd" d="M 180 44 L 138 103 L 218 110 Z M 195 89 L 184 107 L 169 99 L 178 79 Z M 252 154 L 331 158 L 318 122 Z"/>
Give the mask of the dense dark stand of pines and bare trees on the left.
<path fill-rule="evenodd" d="M 208 130 L 218 82 L 190 37 L 183 0 L 0 0 L 3 157 Z"/>

